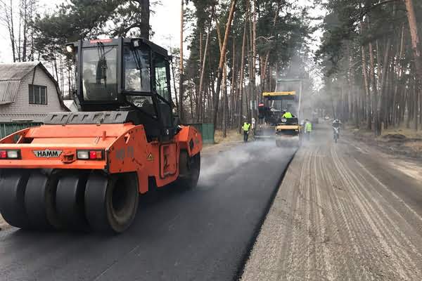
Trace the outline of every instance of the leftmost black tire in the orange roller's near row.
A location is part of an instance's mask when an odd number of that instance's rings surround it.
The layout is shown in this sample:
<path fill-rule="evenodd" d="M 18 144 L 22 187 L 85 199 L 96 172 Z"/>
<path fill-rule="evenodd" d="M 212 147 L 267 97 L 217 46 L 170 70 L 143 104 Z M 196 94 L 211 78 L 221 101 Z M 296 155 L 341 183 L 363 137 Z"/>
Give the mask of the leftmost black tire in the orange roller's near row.
<path fill-rule="evenodd" d="M 30 175 L 25 169 L 4 169 L 0 178 L 0 213 L 4 220 L 17 228 L 30 228 L 25 209 L 25 189 Z"/>

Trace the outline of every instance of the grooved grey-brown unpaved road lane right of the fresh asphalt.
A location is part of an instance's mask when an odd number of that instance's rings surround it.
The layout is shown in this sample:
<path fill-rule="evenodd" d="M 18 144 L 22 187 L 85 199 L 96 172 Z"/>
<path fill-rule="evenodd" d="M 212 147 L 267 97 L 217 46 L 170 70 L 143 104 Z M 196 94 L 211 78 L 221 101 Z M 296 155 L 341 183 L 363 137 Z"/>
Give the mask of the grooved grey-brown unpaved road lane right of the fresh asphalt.
<path fill-rule="evenodd" d="M 422 280 L 422 168 L 316 127 L 241 280 Z"/>

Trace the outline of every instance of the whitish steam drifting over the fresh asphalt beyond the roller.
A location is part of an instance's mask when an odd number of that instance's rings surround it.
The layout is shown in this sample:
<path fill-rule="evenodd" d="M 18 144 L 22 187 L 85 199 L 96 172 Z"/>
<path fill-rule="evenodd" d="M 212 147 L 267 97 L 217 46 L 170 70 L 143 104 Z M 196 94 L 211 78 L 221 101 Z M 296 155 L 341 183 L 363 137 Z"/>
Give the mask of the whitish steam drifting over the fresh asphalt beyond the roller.
<path fill-rule="evenodd" d="M 238 172 L 251 173 L 248 169 L 251 162 L 274 162 L 291 157 L 295 148 L 277 148 L 274 139 L 254 141 L 237 145 L 234 148 L 223 148 L 222 152 L 212 152 L 210 157 L 203 157 L 200 170 L 199 185 L 214 185 L 215 176 L 230 176 Z M 243 171 L 242 171 L 243 170 Z M 259 172 L 259 171 L 256 171 Z M 274 169 L 274 172 L 279 172 Z"/>

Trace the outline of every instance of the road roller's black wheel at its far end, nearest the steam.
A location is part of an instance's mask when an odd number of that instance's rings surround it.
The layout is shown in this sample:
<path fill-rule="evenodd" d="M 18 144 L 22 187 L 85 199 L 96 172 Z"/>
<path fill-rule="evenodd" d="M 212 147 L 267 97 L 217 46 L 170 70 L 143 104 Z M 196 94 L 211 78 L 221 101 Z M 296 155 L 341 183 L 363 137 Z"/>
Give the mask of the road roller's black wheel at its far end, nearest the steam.
<path fill-rule="evenodd" d="M 179 177 L 174 181 L 178 188 L 191 190 L 196 188 L 200 174 L 200 152 L 189 157 L 186 150 L 181 150 L 179 157 Z"/>

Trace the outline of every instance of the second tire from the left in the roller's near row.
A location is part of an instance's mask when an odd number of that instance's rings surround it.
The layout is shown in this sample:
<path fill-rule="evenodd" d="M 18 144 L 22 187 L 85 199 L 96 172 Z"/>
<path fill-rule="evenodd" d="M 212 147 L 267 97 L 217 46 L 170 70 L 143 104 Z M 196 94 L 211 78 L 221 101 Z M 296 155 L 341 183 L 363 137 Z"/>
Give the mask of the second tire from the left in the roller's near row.
<path fill-rule="evenodd" d="M 34 170 L 25 190 L 25 208 L 32 224 L 38 230 L 60 229 L 62 224 L 56 209 L 58 173 Z"/>

